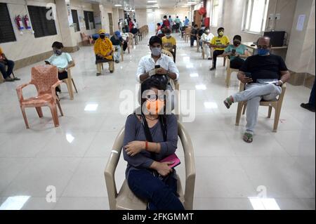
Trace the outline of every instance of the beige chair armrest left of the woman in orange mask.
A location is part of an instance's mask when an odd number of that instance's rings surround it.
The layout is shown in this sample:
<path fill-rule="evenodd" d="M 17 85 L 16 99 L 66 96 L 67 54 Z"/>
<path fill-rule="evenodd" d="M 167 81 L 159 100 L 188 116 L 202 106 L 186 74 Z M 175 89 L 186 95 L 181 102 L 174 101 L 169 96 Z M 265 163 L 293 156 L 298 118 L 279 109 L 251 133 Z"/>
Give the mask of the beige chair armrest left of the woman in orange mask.
<path fill-rule="evenodd" d="M 124 128 L 121 129 L 119 135 L 114 141 L 110 158 L 105 166 L 104 176 L 105 185 L 107 186 L 107 196 L 109 197 L 110 209 L 114 209 L 116 206 L 117 197 L 117 185 L 115 183 L 114 173 L 119 163 L 119 157 L 121 155 L 121 148 L 123 147 L 124 140 Z"/>

